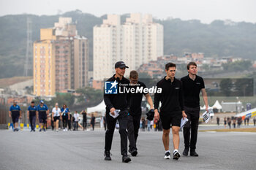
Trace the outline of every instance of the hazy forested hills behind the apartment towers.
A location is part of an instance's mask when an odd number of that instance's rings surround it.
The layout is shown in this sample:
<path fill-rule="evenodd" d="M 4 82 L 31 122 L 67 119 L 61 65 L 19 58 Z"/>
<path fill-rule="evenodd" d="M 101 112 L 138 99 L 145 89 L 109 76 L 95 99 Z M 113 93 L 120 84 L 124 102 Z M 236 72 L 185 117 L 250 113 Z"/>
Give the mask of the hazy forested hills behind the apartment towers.
<path fill-rule="evenodd" d="M 107 15 L 98 18 L 79 10 L 51 16 L 6 15 L 0 17 L 0 78 L 23 76 L 28 17 L 31 18 L 33 42 L 40 39 L 40 28 L 53 27 L 53 23 L 58 22 L 59 17 L 72 18 L 78 34 L 88 39 L 89 70 L 93 69 L 94 26 L 100 26 L 103 20 L 107 19 Z M 121 25 L 129 17 L 129 15 L 121 15 Z M 164 28 L 164 55 L 183 56 L 184 53 L 204 53 L 206 58 L 255 58 L 256 25 L 253 23 L 215 20 L 211 24 L 203 24 L 199 20 L 173 18 L 153 21 Z"/>

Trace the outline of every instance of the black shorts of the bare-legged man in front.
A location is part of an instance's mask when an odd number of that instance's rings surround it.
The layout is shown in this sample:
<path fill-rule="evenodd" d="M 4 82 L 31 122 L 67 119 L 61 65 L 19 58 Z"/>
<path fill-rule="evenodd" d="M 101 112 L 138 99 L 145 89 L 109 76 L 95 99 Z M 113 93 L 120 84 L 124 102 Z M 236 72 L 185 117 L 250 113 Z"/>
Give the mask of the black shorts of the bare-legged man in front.
<path fill-rule="evenodd" d="M 160 119 L 162 121 L 162 128 L 165 130 L 170 129 L 170 126 L 181 126 L 181 118 L 182 118 L 182 112 L 170 112 L 161 114 L 160 113 Z"/>

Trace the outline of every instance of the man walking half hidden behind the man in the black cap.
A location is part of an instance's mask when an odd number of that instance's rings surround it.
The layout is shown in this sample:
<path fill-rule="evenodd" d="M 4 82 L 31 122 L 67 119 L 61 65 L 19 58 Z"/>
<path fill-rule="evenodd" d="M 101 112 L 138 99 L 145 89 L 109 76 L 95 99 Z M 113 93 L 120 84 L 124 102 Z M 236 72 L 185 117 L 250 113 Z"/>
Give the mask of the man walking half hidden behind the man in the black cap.
<path fill-rule="evenodd" d="M 129 73 L 129 80 L 131 85 L 130 89 L 134 88 L 136 90 L 138 88 L 146 88 L 146 85 L 143 82 L 138 81 L 138 78 L 138 72 L 135 70 L 132 70 Z M 152 98 L 146 91 L 142 90 L 142 93 L 137 93 L 135 91 L 135 93 L 130 94 L 127 130 L 129 139 L 129 152 L 132 154 L 132 156 L 136 156 L 138 154 L 136 142 L 138 138 L 138 131 L 140 129 L 141 101 L 143 94 L 146 96 L 148 104 L 150 105 L 150 109 L 154 109 Z"/>

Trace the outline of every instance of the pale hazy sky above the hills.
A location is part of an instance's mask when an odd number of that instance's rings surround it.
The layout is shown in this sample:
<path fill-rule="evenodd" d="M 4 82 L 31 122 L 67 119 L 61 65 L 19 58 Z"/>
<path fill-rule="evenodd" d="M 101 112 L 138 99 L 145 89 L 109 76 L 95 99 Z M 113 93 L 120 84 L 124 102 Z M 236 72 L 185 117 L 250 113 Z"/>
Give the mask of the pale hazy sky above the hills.
<path fill-rule="evenodd" d="M 255 0 L 0 0 L 0 16 L 56 15 L 75 9 L 96 16 L 140 12 L 159 19 L 197 19 L 202 23 L 230 19 L 256 23 Z"/>

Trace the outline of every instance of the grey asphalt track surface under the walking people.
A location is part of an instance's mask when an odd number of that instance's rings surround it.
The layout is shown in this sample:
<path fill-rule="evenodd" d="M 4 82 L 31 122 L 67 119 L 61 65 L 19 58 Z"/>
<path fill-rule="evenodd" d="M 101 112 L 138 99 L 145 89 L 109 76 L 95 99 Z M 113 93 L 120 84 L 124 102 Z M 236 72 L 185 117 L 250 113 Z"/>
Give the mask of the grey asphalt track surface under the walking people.
<path fill-rule="evenodd" d="M 216 128 L 216 127 L 211 127 Z M 200 130 L 205 128 L 200 127 Z M 0 131 L 0 169 L 256 169 L 256 133 L 199 132 L 199 157 L 164 159 L 162 132 L 140 131 L 138 156 L 122 163 L 120 137 L 115 131 L 112 161 L 104 161 L 105 132 L 96 131 Z M 180 134 L 179 152 L 184 150 Z M 170 149 L 173 144 L 170 140 Z"/>

